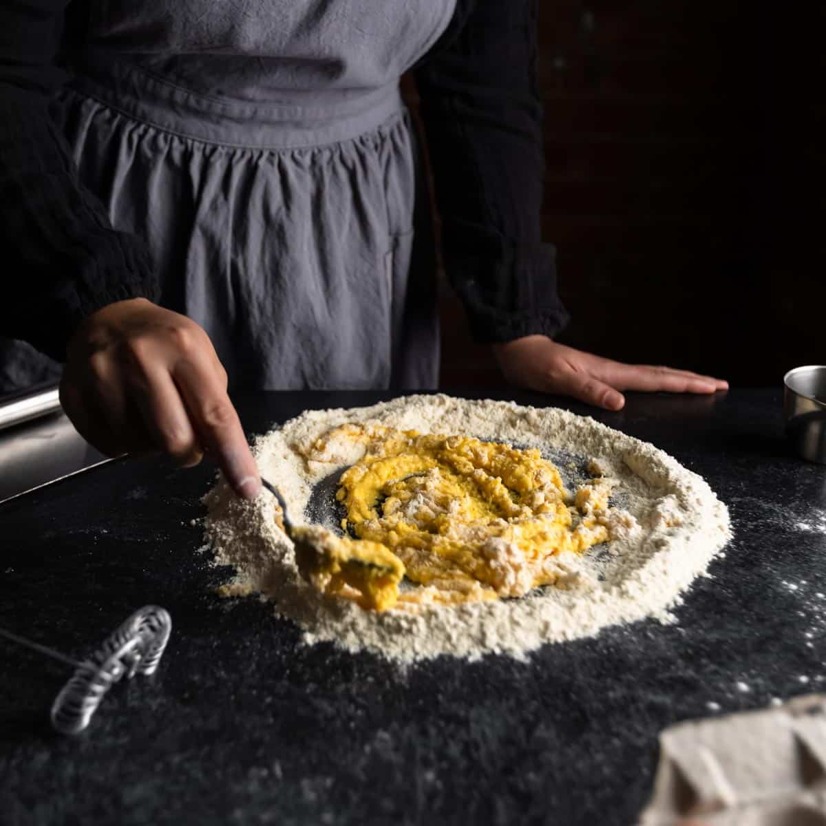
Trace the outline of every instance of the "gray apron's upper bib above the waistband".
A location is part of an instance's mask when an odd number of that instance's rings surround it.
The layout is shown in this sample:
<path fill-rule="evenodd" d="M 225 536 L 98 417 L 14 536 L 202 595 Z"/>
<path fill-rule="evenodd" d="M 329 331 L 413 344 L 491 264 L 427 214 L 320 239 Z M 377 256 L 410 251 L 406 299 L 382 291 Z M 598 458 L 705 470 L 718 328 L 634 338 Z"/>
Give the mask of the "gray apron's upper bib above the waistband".
<path fill-rule="evenodd" d="M 92 0 L 73 13 L 75 59 L 131 65 L 193 93 L 337 106 L 430 50 L 454 0 Z"/>

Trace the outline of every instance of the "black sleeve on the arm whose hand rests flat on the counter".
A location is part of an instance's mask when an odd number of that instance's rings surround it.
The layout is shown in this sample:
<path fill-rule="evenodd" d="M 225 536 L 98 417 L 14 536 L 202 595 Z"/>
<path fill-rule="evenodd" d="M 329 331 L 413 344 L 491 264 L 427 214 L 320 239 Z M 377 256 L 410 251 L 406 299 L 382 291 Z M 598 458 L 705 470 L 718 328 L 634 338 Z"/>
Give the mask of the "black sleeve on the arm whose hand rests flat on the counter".
<path fill-rule="evenodd" d="M 442 252 L 474 338 L 555 335 L 567 324 L 543 243 L 537 0 L 459 0 L 415 68 Z"/>

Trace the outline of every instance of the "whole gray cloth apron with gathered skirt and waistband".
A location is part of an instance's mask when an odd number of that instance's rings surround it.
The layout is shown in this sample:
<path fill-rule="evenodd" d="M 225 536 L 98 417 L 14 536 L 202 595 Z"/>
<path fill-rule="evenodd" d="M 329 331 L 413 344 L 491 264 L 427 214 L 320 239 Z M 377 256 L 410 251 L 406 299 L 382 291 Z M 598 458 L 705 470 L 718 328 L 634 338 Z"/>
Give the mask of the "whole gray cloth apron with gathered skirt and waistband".
<path fill-rule="evenodd" d="M 398 81 L 454 5 L 92 3 L 61 126 L 231 386 L 436 386 L 430 216 Z"/>

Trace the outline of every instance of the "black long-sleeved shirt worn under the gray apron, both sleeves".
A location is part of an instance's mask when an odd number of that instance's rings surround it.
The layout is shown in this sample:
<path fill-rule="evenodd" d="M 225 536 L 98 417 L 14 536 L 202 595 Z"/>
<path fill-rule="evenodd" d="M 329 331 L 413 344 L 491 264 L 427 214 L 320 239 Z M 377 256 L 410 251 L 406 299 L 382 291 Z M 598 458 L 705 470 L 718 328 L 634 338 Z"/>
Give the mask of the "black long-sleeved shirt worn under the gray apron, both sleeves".
<path fill-rule="evenodd" d="M 70 6 L 0 5 L 0 334 L 58 359 L 86 316 L 159 293 L 144 241 L 112 227 L 49 114 L 69 79 L 59 55 Z M 536 17 L 537 0 L 458 0 L 448 29 L 414 67 L 445 266 L 482 341 L 553 335 L 567 320 L 553 247 L 539 232 Z"/>

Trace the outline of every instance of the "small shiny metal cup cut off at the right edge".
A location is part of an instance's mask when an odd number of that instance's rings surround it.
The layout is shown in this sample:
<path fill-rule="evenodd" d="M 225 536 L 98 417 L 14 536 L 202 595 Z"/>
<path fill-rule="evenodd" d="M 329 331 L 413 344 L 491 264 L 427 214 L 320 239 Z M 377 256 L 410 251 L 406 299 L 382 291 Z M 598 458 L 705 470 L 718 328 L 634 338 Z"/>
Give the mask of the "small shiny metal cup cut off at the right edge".
<path fill-rule="evenodd" d="M 809 462 L 826 464 L 826 366 L 797 367 L 783 377 L 786 434 Z"/>

